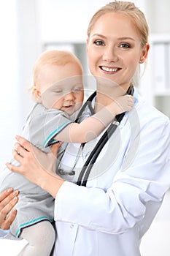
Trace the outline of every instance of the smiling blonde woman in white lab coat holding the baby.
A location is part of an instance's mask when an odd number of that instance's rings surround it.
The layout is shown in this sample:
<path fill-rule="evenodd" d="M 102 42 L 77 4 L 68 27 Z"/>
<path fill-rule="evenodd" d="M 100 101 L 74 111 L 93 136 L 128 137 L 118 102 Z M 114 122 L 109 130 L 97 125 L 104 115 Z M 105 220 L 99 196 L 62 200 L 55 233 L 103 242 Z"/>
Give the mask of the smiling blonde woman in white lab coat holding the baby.
<path fill-rule="evenodd" d="M 108 105 L 115 83 L 133 93 L 134 109 L 125 113 L 120 124 L 114 121 L 113 126 L 119 124 L 117 129 L 108 132 L 105 145 L 105 139 L 100 140 L 101 151 L 89 169 L 83 165 L 101 136 L 85 145 L 61 146 L 65 151 L 62 157 L 58 153 L 58 170 L 64 170 L 65 175 L 60 177 L 42 167 L 34 157 L 38 150 L 17 137 L 13 157 L 20 167 L 9 163 L 7 167 L 55 197 L 57 236 L 53 255 L 140 255 L 141 238 L 170 187 L 169 118 L 147 105 L 133 89 L 136 69 L 146 61 L 148 50 L 147 23 L 133 3 L 109 3 L 90 20 L 87 52 L 97 92 L 82 116 L 93 115 Z M 50 155 L 43 157 L 52 159 Z M 7 214 L 17 203 L 17 195 L 12 189 L 0 195 L 3 229 L 9 228 L 15 218 L 15 210 L 9 217 Z"/>

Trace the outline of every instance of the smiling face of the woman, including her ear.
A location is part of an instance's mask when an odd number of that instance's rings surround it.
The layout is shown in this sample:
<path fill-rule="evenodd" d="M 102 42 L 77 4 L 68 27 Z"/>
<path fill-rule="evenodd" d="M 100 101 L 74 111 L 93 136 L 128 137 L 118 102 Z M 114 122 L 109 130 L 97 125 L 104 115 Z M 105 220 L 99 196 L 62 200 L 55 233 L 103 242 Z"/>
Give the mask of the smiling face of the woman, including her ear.
<path fill-rule="evenodd" d="M 90 72 L 112 80 L 127 91 L 136 67 L 147 58 L 149 45 L 141 45 L 140 34 L 131 18 L 120 12 L 101 15 L 87 40 Z"/>

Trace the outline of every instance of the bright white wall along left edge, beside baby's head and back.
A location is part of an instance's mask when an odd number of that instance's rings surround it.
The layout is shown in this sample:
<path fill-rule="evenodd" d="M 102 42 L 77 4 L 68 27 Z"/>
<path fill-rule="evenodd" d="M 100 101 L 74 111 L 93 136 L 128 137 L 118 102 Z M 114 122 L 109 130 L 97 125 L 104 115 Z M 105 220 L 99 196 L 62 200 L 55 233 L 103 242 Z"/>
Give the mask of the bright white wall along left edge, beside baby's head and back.
<path fill-rule="evenodd" d="M 34 61 L 41 52 L 36 26 L 36 1 L 0 2 L 1 168 L 12 157 L 15 135 L 20 134 L 32 105 L 28 87 Z"/>

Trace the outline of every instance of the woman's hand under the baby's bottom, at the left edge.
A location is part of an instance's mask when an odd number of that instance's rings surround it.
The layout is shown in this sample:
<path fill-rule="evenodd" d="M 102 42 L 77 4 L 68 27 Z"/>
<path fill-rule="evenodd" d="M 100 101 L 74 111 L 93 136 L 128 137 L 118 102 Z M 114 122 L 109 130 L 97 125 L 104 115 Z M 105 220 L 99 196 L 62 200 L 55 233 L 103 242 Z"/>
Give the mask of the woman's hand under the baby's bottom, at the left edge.
<path fill-rule="evenodd" d="M 2 230 L 8 230 L 14 221 L 17 211 L 12 208 L 17 202 L 18 191 L 9 188 L 0 193 L 0 228 Z M 10 214 L 9 211 L 11 211 Z M 9 214 L 8 217 L 7 214 Z"/>

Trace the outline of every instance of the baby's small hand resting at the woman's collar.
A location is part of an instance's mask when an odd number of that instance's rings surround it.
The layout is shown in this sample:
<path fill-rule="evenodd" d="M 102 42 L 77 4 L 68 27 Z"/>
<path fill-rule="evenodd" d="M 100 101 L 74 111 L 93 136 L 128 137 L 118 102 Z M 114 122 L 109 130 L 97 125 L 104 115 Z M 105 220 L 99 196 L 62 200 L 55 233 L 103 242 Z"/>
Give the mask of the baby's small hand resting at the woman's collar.
<path fill-rule="evenodd" d="M 115 103 L 117 105 L 115 106 L 116 108 L 115 112 L 117 115 L 125 111 L 131 111 L 134 106 L 134 97 L 132 97 L 131 95 L 125 94 L 115 99 Z"/>

